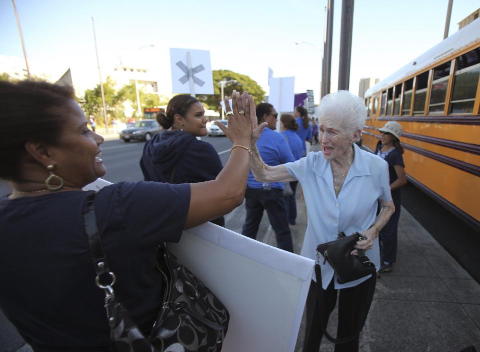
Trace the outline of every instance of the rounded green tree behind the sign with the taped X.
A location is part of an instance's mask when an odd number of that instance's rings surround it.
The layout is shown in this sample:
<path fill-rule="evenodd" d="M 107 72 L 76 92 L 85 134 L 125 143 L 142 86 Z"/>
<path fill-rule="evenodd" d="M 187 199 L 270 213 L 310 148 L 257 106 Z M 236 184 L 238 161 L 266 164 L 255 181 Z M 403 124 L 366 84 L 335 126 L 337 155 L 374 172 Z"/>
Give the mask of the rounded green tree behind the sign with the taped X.
<path fill-rule="evenodd" d="M 220 81 L 223 81 L 223 93 L 231 96 L 233 90 L 237 92 L 248 91 L 249 94 L 255 99 L 255 103 L 261 103 L 265 97 L 265 92 L 261 89 L 260 85 L 253 81 L 250 77 L 241 75 L 236 72 L 228 70 L 213 70 L 213 95 L 199 94 L 196 98 L 205 103 L 211 110 L 221 109 L 220 101 L 223 99 L 221 96 Z"/>

